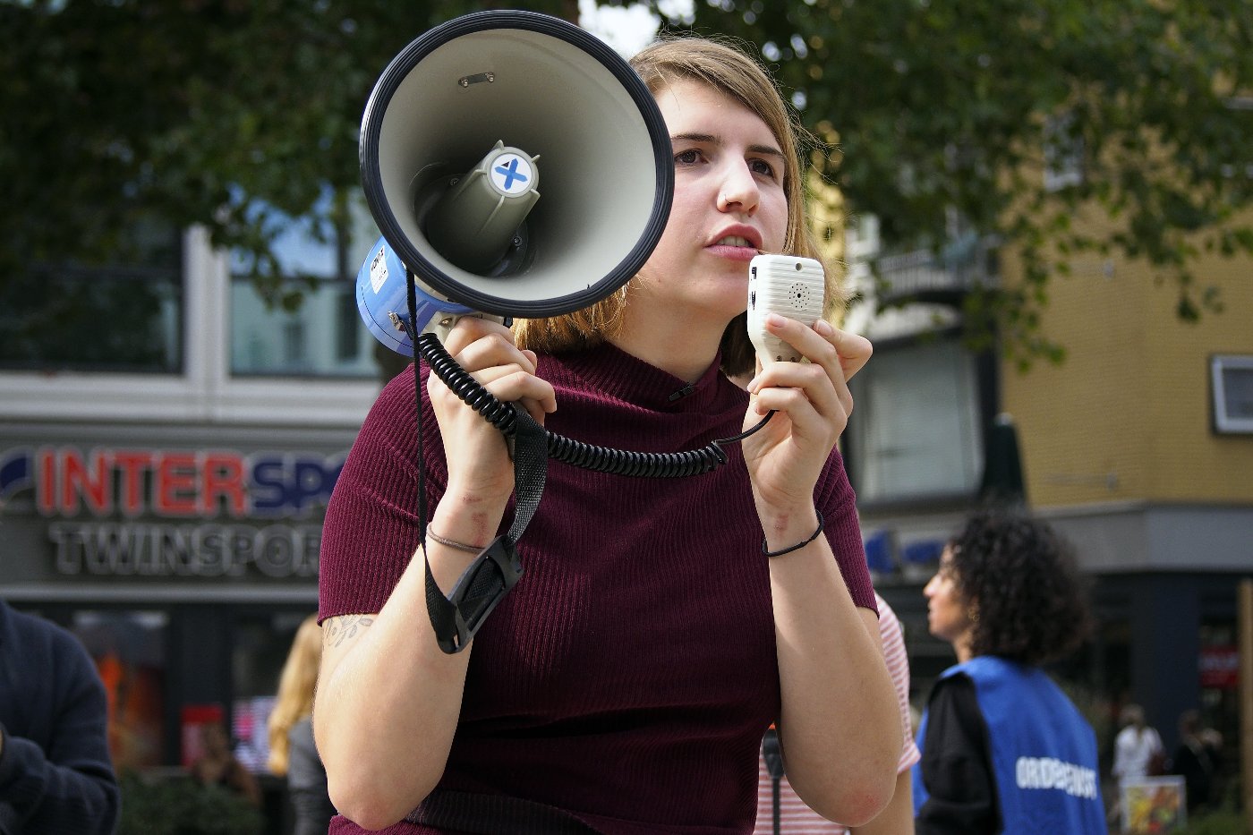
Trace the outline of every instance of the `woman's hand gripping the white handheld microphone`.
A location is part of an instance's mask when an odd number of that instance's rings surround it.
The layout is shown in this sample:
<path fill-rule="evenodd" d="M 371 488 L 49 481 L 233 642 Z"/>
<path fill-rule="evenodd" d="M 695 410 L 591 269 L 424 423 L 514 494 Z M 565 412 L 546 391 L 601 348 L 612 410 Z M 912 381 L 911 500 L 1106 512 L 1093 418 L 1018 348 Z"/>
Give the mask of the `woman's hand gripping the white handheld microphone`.
<path fill-rule="evenodd" d="M 809 360 L 758 364 L 748 384 L 744 429 L 771 410 L 777 412 L 743 441 L 758 512 L 789 514 L 812 507 L 813 486 L 853 410 L 848 380 L 866 365 L 872 349 L 870 340 L 823 320 L 811 328 L 772 313 L 766 326 Z"/>

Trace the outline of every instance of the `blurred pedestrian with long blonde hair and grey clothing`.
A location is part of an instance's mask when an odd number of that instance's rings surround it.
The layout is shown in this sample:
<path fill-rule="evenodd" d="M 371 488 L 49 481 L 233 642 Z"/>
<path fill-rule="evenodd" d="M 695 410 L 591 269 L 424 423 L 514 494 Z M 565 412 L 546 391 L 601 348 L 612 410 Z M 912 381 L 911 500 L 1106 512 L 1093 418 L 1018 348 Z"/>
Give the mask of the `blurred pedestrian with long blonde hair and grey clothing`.
<path fill-rule="evenodd" d="M 296 825 L 292 835 L 326 835 L 335 806 L 326 789 L 326 769 L 313 746 L 313 691 L 322 661 L 317 616 L 301 623 L 278 678 L 269 713 L 269 770 L 287 779 Z"/>

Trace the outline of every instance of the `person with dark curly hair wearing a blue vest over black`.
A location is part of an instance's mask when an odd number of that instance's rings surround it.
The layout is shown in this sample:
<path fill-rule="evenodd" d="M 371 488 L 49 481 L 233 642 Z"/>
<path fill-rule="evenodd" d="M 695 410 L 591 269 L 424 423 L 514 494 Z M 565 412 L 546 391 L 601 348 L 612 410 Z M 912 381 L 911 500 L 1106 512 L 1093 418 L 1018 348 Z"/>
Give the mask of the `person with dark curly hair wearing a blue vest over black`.
<path fill-rule="evenodd" d="M 1090 628 L 1070 545 L 1039 519 L 981 510 L 923 594 L 959 663 L 918 726 L 917 835 L 1105 832 L 1096 735 L 1040 667 Z"/>

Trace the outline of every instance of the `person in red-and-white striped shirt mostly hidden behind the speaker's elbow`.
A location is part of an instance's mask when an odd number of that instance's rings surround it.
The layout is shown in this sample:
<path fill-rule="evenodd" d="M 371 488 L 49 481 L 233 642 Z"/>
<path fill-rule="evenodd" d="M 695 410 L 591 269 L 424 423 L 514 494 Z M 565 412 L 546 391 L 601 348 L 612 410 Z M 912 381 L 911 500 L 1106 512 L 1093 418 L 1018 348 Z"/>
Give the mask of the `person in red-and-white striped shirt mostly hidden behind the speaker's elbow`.
<path fill-rule="evenodd" d="M 913 743 L 913 723 L 910 715 L 910 659 L 905 653 L 905 634 L 896 612 L 880 594 L 875 593 L 878 604 L 878 632 L 883 639 L 883 658 L 892 676 L 896 700 L 901 706 L 901 732 L 905 745 L 901 746 L 901 760 L 896 770 L 896 791 L 887 807 L 872 821 L 862 826 L 846 827 L 836 824 L 804 805 L 797 796 L 783 774 L 782 760 L 773 762 L 773 755 L 767 745 L 762 746 L 759 764 L 759 787 L 757 791 L 757 835 L 901 835 L 913 831 L 913 792 L 910 782 L 910 769 L 918 761 L 918 748 Z M 776 743 L 777 745 L 777 743 Z M 836 751 L 832 756 L 840 756 Z M 778 794 L 776 795 L 776 780 Z M 776 826 L 777 821 L 777 826 Z"/>

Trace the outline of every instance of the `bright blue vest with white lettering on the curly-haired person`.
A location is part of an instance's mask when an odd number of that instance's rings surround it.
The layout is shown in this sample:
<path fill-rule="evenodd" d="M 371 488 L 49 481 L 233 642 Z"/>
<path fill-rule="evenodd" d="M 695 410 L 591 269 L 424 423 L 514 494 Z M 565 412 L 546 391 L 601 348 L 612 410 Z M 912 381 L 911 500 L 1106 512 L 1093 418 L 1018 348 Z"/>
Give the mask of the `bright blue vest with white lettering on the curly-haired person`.
<path fill-rule="evenodd" d="M 1004 832 L 1104 835 L 1096 735 L 1039 667 L 980 656 L 941 673 L 966 673 L 987 723 Z M 927 717 L 918 726 L 926 741 Z M 927 800 L 921 762 L 913 766 L 913 811 Z"/>

